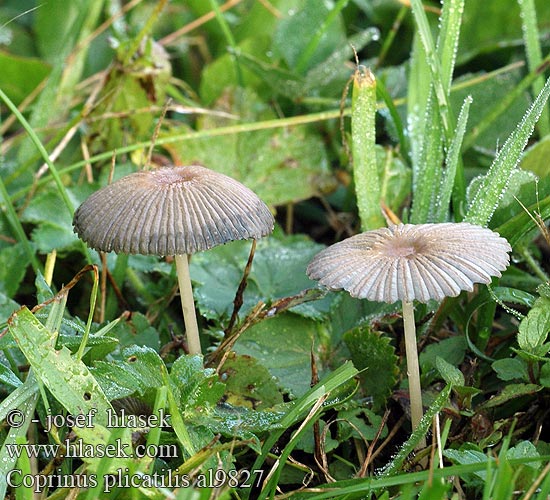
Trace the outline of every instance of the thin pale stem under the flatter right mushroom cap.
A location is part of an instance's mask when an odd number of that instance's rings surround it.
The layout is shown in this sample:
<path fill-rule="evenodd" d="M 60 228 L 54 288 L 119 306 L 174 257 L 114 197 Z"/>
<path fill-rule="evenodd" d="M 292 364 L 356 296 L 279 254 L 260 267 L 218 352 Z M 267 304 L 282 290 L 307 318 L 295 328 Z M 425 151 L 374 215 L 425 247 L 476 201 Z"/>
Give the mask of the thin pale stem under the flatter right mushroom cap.
<path fill-rule="evenodd" d="M 414 308 L 412 302 L 406 300 L 403 304 L 403 326 L 405 329 L 405 353 L 407 355 L 407 375 L 409 377 L 409 397 L 411 402 L 411 423 L 413 431 L 416 430 L 422 415 L 422 392 L 420 389 L 420 368 L 418 364 L 418 349 L 416 347 L 416 327 L 414 324 Z M 423 437 L 418 443 L 418 448 L 426 447 L 426 439 Z"/>

